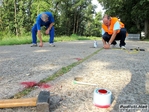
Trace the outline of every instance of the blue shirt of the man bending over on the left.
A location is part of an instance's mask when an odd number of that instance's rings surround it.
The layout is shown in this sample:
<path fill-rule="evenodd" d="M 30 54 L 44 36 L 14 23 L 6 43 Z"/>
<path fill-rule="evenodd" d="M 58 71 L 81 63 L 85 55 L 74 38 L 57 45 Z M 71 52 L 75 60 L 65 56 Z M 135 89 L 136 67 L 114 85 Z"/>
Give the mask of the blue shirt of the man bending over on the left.
<path fill-rule="evenodd" d="M 47 21 L 47 22 L 44 22 L 44 21 L 41 19 L 41 16 L 42 16 L 43 13 L 46 14 L 46 15 L 48 15 L 48 21 Z M 41 26 L 49 27 L 49 25 L 50 25 L 51 23 L 54 23 L 54 17 L 53 17 L 53 15 L 52 15 L 51 12 L 43 12 L 43 13 L 41 13 L 41 14 L 39 14 L 39 15 L 37 16 L 37 19 L 36 19 L 37 30 L 41 30 Z"/>

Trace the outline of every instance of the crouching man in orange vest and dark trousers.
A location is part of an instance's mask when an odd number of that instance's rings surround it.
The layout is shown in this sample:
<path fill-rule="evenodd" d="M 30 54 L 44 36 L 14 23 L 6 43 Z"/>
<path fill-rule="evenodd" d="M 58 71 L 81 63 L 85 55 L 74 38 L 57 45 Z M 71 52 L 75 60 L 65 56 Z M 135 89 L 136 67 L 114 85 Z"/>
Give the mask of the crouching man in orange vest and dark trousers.
<path fill-rule="evenodd" d="M 126 49 L 125 38 L 126 28 L 124 24 L 116 17 L 104 15 L 102 24 L 102 42 L 105 49 L 109 49 L 111 45 L 115 46 L 116 40 L 120 40 L 120 48 Z"/>

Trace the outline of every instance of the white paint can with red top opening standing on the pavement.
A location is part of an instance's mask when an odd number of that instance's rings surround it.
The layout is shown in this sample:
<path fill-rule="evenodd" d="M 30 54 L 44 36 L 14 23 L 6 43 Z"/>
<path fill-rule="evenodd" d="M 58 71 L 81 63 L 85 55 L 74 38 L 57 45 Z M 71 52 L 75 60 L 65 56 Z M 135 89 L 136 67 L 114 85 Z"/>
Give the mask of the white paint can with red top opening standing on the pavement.
<path fill-rule="evenodd" d="M 95 89 L 93 94 L 93 104 L 99 108 L 108 108 L 111 105 L 112 92 L 107 89 Z"/>

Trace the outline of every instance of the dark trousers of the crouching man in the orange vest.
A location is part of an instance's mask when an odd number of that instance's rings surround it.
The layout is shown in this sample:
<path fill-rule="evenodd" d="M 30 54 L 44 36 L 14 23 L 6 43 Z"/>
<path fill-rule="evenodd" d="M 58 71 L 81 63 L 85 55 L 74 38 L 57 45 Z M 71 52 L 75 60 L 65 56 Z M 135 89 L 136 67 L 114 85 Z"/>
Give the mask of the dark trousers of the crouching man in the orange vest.
<path fill-rule="evenodd" d="M 115 40 L 111 43 L 113 45 L 116 45 L 116 40 L 120 40 L 120 44 L 119 46 L 125 46 L 125 38 L 126 38 L 126 28 L 121 28 L 120 32 L 116 35 Z M 112 35 L 109 35 L 107 32 L 104 33 L 104 35 L 102 36 L 102 38 L 106 41 L 109 42 L 110 38 Z"/>

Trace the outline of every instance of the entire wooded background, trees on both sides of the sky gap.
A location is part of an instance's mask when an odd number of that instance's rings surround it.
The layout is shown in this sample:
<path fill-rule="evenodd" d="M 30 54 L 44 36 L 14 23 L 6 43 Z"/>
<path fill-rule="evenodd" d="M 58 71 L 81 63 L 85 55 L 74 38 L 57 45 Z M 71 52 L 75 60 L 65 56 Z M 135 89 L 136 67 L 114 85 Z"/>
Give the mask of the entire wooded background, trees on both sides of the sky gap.
<path fill-rule="evenodd" d="M 72 34 L 101 37 L 102 12 L 92 0 L 1 0 L 0 39 L 29 35 L 39 13 L 50 11 L 56 36 Z M 119 17 L 128 33 L 144 31 L 149 38 L 149 0 L 98 0 L 106 13 Z"/>

